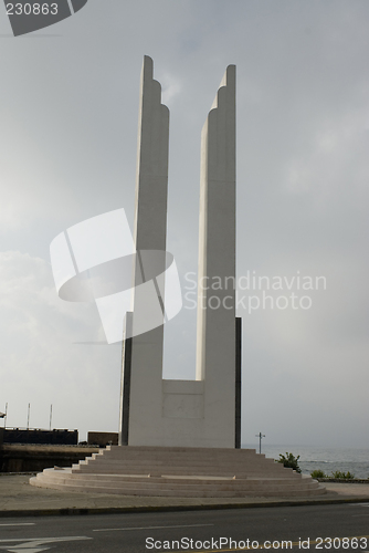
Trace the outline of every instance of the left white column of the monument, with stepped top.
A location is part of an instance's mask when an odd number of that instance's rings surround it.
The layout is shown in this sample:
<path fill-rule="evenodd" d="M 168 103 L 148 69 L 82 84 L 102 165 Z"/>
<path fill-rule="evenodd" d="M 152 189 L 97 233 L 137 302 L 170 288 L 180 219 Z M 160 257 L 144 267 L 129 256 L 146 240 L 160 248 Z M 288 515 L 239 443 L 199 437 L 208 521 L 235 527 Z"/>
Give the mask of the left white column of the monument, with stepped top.
<path fill-rule="evenodd" d="M 152 60 L 144 59 L 138 119 L 137 181 L 135 211 L 134 305 L 128 444 L 146 445 L 155 440 L 161 427 L 164 326 L 135 335 L 148 317 L 162 315 L 162 299 L 155 278 L 165 272 L 165 255 L 152 263 L 145 251 L 166 251 L 169 109 L 161 104 L 160 84 L 152 77 Z M 155 265 L 155 267 L 154 267 Z M 143 282 L 150 281 L 145 286 Z M 152 284 L 151 284 L 152 283 Z M 149 286 L 156 290 L 149 290 Z M 147 304 L 157 298 L 157 304 Z M 155 293 L 156 292 L 156 293 Z M 162 293 L 162 291 L 161 291 Z M 152 434 L 154 432 L 154 434 Z"/>

